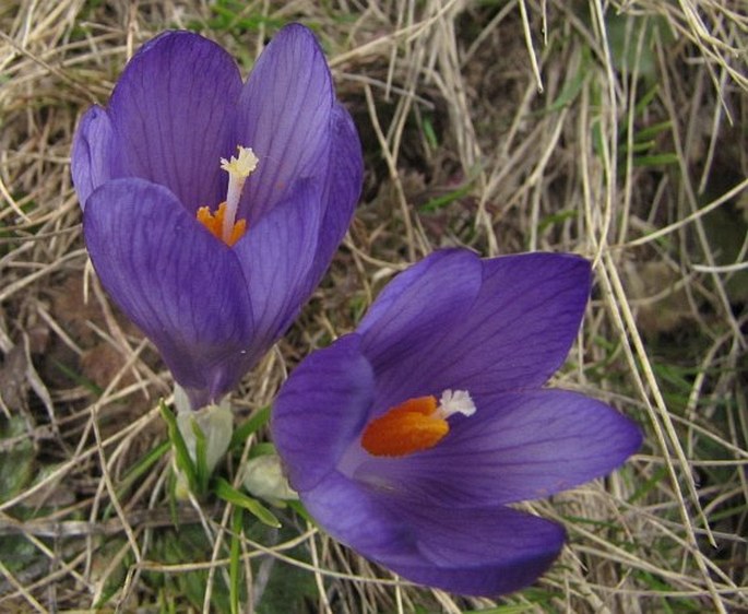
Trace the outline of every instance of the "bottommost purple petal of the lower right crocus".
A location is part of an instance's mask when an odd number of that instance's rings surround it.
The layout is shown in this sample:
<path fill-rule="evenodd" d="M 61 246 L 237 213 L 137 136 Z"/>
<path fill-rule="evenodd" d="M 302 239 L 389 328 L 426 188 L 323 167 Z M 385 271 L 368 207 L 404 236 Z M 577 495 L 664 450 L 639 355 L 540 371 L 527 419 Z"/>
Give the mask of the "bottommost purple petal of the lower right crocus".
<path fill-rule="evenodd" d="M 563 545 L 563 529 L 542 518 L 498 506 L 455 511 L 449 501 L 407 501 L 336 472 L 299 494 L 340 542 L 411 581 L 462 594 L 525 587 Z"/>

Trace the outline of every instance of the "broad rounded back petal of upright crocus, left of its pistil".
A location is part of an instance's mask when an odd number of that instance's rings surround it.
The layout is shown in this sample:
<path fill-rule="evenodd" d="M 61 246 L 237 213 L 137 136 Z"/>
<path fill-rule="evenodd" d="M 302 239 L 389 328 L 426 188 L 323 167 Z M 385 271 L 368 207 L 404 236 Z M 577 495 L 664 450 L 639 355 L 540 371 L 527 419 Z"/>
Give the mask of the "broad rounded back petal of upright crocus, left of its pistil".
<path fill-rule="evenodd" d="M 215 43 L 167 32 L 128 63 L 111 95 L 112 177 L 140 177 L 170 189 L 194 212 L 225 197 L 221 157 L 241 91 L 236 62 Z"/>

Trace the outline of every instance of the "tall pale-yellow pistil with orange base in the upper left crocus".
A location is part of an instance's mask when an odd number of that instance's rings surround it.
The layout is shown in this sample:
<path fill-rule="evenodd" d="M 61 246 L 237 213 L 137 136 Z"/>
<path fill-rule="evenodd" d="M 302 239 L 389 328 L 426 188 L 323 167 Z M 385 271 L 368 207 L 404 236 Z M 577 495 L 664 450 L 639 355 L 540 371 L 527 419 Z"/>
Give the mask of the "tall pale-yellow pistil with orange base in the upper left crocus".
<path fill-rule="evenodd" d="M 221 158 L 221 168 L 228 173 L 228 192 L 226 200 L 213 212 L 210 206 L 198 209 L 198 222 L 210 233 L 222 239 L 227 246 L 233 246 L 247 232 L 247 220 L 236 219 L 239 209 L 241 191 L 249 177 L 257 168 L 258 157 L 251 147 L 237 146 L 238 155 L 231 160 Z"/>

